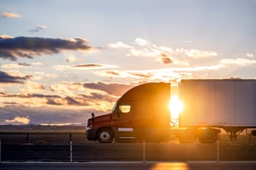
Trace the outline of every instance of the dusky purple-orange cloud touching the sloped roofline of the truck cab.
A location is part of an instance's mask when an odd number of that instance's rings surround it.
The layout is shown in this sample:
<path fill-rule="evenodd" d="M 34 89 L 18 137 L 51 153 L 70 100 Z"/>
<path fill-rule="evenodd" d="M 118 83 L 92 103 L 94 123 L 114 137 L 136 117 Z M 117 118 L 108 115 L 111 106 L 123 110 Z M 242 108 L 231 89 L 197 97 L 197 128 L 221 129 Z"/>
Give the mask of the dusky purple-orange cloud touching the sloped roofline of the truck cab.
<path fill-rule="evenodd" d="M 101 90 L 115 96 L 121 96 L 122 94 L 124 94 L 124 92 L 127 92 L 127 90 L 131 89 L 133 86 L 129 84 L 105 84 L 99 81 L 96 83 L 85 83 L 84 87 L 89 89 Z"/>

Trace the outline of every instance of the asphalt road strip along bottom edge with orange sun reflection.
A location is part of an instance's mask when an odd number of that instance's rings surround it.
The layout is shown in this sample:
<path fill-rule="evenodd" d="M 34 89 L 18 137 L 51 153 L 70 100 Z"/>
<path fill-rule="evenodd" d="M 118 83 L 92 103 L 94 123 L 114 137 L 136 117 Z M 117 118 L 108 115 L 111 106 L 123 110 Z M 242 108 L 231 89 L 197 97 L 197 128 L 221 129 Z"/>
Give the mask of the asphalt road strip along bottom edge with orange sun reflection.
<path fill-rule="evenodd" d="M 169 169 L 169 170 L 255 170 L 256 163 L 253 162 L 225 162 L 225 163 L 157 163 L 157 162 L 90 162 L 90 163 L 0 163 L 1 170 L 44 170 L 44 169 Z"/>

